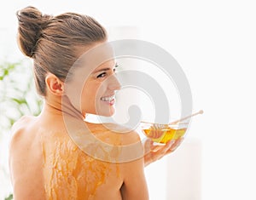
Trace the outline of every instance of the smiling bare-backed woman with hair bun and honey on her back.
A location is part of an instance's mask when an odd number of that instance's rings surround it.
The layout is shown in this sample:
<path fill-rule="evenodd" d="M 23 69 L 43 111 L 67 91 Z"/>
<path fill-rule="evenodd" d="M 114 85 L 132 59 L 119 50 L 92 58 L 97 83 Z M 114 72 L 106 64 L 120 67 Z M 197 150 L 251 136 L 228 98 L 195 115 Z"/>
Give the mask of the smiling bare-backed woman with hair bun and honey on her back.
<path fill-rule="evenodd" d="M 21 117 L 13 127 L 9 167 L 15 200 L 148 199 L 144 167 L 179 144 L 170 142 L 142 157 L 112 162 L 119 156 L 115 146 L 141 145 L 138 134 L 133 130 L 119 134 L 116 130 L 122 132 L 123 128 L 118 125 L 84 121 L 88 113 L 113 115 L 114 94 L 120 89 L 113 59 L 90 65 L 95 58 L 87 54 L 73 67 L 81 55 L 107 43 L 106 30 L 83 14 L 51 16 L 27 7 L 17 12 L 17 17 L 18 44 L 33 60 L 44 108 L 38 117 Z M 111 146 L 111 151 L 93 155 L 99 146 L 91 144 L 96 142 L 90 143 L 90 148 L 85 142 L 83 150 L 70 134 L 85 134 L 72 125 L 76 123 L 84 124 L 94 139 Z M 112 125 L 115 131 L 109 129 Z M 150 142 L 146 146 L 153 150 Z"/>

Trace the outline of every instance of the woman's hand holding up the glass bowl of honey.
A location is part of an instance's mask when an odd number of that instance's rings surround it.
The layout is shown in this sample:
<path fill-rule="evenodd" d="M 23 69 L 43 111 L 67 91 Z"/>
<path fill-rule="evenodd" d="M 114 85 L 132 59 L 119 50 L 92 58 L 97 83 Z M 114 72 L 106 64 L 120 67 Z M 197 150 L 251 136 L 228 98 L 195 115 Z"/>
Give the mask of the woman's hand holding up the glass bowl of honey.
<path fill-rule="evenodd" d="M 170 140 L 166 143 L 165 146 L 158 146 L 154 145 L 154 142 L 152 140 L 147 139 L 144 143 L 144 167 L 175 151 L 177 149 L 177 146 L 179 146 L 182 141 L 183 138 L 180 138 L 178 140 Z"/>

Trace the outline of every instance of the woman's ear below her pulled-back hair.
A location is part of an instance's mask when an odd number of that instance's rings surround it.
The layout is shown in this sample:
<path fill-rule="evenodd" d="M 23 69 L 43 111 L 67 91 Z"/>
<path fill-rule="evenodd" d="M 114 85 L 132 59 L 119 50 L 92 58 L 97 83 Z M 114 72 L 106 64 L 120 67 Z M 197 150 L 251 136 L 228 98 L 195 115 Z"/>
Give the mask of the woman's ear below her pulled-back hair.
<path fill-rule="evenodd" d="M 64 94 L 64 83 L 54 74 L 49 73 L 45 77 L 47 89 L 51 94 L 61 96 Z"/>

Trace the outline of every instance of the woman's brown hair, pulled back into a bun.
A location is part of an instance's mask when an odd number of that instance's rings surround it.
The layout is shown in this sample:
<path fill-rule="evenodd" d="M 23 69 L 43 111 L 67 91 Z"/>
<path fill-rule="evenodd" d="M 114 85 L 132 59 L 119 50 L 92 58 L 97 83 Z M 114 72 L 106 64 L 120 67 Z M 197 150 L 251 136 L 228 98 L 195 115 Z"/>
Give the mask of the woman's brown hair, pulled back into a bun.
<path fill-rule="evenodd" d="M 33 59 L 36 87 L 43 96 L 48 71 L 64 81 L 79 57 L 77 47 L 107 39 L 104 27 L 88 15 L 64 13 L 54 17 L 31 6 L 16 14 L 20 50 Z"/>

